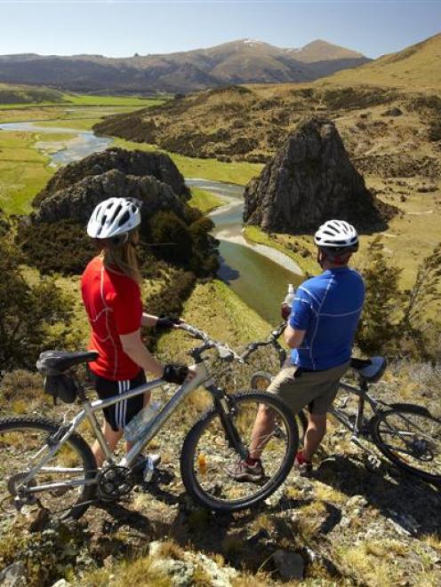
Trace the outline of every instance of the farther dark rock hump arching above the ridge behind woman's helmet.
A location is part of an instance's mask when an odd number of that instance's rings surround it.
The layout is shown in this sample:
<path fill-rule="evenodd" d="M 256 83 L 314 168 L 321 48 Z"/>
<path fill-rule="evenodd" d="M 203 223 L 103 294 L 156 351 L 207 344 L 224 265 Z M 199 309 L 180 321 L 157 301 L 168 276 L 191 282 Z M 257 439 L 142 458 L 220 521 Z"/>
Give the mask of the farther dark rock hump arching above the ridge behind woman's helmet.
<path fill-rule="evenodd" d="M 77 163 L 69 163 L 66 167 L 57 171 L 47 186 L 39 194 L 36 194 L 33 205 L 38 206 L 60 189 L 72 186 L 83 178 L 101 175 L 110 170 L 121 171 L 124 175 L 140 178 L 151 176 L 156 178 L 158 182 L 164 182 L 171 186 L 173 192 L 180 195 L 184 200 L 189 198 L 189 191 L 184 183 L 184 178 L 168 155 L 110 148 L 102 153 L 95 153 L 85 157 Z M 110 197 L 110 195 L 128 194 L 114 192 L 106 197 Z"/>

